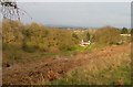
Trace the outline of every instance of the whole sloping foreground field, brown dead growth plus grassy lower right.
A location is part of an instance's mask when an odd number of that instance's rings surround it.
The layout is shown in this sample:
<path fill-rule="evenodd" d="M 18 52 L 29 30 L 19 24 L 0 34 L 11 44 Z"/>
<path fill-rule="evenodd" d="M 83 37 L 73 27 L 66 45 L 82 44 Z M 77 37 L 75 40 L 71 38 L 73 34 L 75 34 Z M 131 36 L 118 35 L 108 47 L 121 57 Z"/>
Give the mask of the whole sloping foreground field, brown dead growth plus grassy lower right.
<path fill-rule="evenodd" d="M 4 84 L 130 85 L 130 44 L 91 53 L 41 58 L 3 68 Z M 43 56 L 42 56 L 43 57 Z"/>

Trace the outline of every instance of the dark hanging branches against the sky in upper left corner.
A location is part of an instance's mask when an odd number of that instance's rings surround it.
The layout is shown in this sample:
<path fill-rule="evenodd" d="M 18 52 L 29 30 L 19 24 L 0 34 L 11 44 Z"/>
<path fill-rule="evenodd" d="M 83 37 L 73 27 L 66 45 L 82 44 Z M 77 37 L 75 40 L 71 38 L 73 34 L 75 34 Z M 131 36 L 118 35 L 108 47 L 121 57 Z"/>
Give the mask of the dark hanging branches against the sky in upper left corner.
<path fill-rule="evenodd" d="M 16 0 L 0 0 L 0 7 L 3 19 L 20 20 L 21 15 L 28 14 L 24 10 L 18 7 Z"/>

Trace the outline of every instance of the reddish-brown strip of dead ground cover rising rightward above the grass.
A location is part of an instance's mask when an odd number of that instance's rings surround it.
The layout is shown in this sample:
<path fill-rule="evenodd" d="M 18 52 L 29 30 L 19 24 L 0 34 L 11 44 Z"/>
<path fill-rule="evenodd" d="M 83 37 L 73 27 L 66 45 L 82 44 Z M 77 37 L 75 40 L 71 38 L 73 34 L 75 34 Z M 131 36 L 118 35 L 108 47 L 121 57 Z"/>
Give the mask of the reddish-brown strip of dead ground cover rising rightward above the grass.
<path fill-rule="evenodd" d="M 17 64 L 3 68 L 3 84 L 30 85 L 39 80 L 53 80 L 65 76 L 71 69 L 86 65 L 89 61 L 100 57 L 115 56 L 131 52 L 131 45 L 108 46 L 90 53 L 81 53 L 71 57 L 42 58 L 35 62 Z"/>

